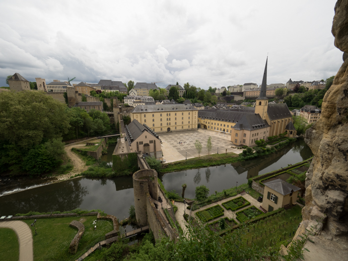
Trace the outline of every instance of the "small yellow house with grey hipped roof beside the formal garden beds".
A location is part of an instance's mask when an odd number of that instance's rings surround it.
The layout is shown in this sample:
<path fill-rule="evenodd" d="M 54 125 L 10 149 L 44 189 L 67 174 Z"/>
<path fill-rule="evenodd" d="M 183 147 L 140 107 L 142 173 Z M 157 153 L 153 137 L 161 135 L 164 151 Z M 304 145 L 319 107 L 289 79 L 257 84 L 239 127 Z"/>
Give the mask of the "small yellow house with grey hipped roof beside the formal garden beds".
<path fill-rule="evenodd" d="M 280 178 L 266 182 L 264 183 L 262 208 L 271 212 L 287 205 L 292 207 L 297 204 L 297 194 L 300 189 Z"/>

